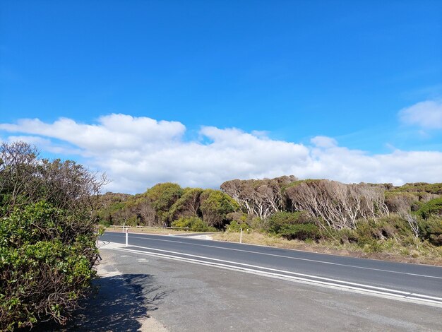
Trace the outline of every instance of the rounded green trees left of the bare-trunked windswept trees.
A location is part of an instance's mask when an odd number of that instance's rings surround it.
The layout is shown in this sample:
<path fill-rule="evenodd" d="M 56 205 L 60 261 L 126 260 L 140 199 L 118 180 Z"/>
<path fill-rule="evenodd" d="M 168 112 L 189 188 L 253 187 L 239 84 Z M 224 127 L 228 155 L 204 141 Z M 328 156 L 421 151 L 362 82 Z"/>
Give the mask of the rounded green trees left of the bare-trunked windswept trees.
<path fill-rule="evenodd" d="M 181 188 L 169 182 L 134 196 L 107 193 L 101 197 L 101 204 L 98 219 L 104 225 L 169 227 L 193 220 L 201 230 L 224 227 L 229 213 L 239 209 L 238 203 L 222 191 Z"/>

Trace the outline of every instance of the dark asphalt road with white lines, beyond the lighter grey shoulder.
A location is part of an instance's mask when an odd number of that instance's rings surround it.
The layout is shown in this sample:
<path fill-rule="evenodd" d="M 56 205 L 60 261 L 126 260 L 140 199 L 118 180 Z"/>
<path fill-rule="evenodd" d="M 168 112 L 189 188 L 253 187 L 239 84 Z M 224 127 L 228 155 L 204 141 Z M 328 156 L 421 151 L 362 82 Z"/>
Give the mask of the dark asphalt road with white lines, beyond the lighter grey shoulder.
<path fill-rule="evenodd" d="M 100 238 L 124 244 L 125 235 Z M 189 237 L 129 234 L 120 250 L 442 307 L 442 268 Z"/>

